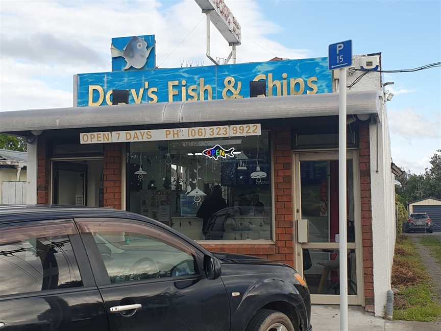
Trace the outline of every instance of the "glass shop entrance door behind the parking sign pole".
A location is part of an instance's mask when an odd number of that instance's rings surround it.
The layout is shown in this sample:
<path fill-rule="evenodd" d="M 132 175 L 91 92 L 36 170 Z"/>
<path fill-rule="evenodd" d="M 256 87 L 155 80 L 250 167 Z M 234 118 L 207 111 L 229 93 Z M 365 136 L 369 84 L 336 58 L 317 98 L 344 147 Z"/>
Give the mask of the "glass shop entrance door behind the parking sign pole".
<path fill-rule="evenodd" d="M 360 242 L 360 192 L 356 155 L 347 160 L 347 230 L 348 294 L 351 304 L 362 301 L 359 282 L 362 269 L 358 263 Z M 298 243 L 297 268 L 303 273 L 313 303 L 339 302 L 339 225 L 338 225 L 338 155 L 336 153 L 302 153 L 295 156 L 295 217 L 307 220 L 306 243 Z M 354 160 L 355 158 L 355 160 Z M 305 241 L 305 240 L 303 240 Z M 300 257 L 300 258 L 299 258 Z M 361 281 L 359 281 L 361 280 Z"/>

